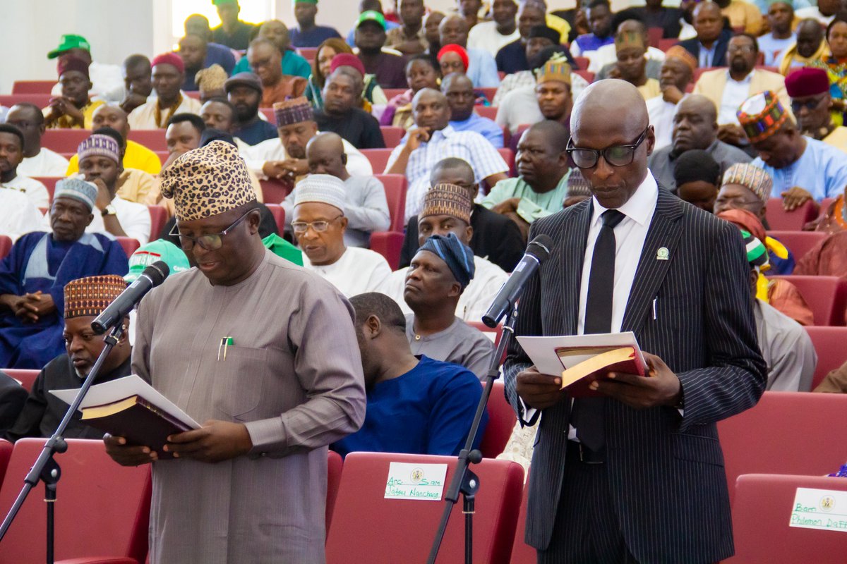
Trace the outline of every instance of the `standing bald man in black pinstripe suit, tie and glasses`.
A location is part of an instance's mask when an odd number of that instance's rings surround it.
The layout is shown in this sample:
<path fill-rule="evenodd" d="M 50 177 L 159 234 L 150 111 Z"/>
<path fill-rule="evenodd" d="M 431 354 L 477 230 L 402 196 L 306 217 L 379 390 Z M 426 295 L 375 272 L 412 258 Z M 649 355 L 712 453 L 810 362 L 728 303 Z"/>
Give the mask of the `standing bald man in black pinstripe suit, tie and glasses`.
<path fill-rule="evenodd" d="M 593 197 L 534 222 L 556 246 L 526 287 L 518 335 L 634 331 L 650 377 L 573 400 L 517 343 L 507 397 L 540 428 L 526 541 L 539 562 L 720 561 L 734 552 L 715 423 L 767 381 L 737 229 L 660 190 L 644 100 L 622 80 L 580 96 L 573 161 Z"/>

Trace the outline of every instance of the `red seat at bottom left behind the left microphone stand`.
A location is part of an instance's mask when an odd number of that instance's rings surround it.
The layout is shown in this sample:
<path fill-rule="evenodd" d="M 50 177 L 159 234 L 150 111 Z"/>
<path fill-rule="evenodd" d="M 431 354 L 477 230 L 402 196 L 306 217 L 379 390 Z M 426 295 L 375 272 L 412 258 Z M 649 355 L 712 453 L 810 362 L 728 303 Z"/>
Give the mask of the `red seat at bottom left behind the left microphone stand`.
<path fill-rule="evenodd" d="M 21 439 L 14 445 L 0 507 L 12 507 L 24 476 L 42 451 L 44 439 Z M 142 562 L 147 556 L 150 514 L 150 467 L 125 468 L 106 454 L 102 441 L 68 440 L 56 456 L 62 468 L 55 504 L 56 560 L 80 559 Z M 46 558 L 44 486 L 36 485 L 8 529 L 0 564 L 38 562 Z M 84 523 L 84 526 L 80 526 Z M 99 556 L 88 560 L 86 557 Z M 118 559 L 121 557 L 120 559 Z"/>

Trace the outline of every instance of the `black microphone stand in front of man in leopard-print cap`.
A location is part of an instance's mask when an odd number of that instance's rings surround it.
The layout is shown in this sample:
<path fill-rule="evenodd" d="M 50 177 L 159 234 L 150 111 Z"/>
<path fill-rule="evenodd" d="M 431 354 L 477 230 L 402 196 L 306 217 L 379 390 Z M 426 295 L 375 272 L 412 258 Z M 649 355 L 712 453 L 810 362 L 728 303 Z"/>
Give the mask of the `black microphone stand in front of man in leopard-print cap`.
<path fill-rule="evenodd" d="M 38 458 L 36 458 L 36 463 L 32 465 L 32 468 L 30 468 L 29 474 L 26 474 L 23 489 L 20 490 L 17 499 L 14 501 L 14 505 L 3 519 L 3 524 L 0 525 L 0 541 L 3 541 L 3 537 L 6 535 L 8 528 L 14 521 L 14 517 L 18 514 L 20 507 L 24 505 L 24 501 L 26 500 L 26 496 L 29 495 L 30 490 L 36 486 L 39 480 L 44 482 L 44 490 L 46 492 L 44 501 L 47 502 L 47 564 L 53 564 L 53 507 L 56 502 L 56 485 L 58 484 L 58 479 L 62 477 L 62 469 L 59 468 L 58 463 L 53 460 L 53 455 L 57 452 L 61 454 L 68 450 L 68 443 L 62 438 L 64 430 L 68 428 L 70 419 L 74 416 L 74 413 L 76 413 L 77 408 L 80 407 L 80 403 L 86 397 L 88 389 L 97 378 L 97 374 L 100 372 L 106 357 L 108 357 L 108 353 L 116 344 L 118 344 L 118 341 L 123 334 L 124 324 L 123 320 L 120 320 L 118 324 L 113 326 L 112 332 L 110 332 L 107 337 L 103 337 L 103 341 L 106 342 L 106 346 L 103 348 L 102 353 L 100 353 L 100 356 L 97 358 L 97 362 L 94 363 L 91 371 L 86 376 L 86 380 L 82 382 L 80 392 L 76 394 L 74 402 L 70 404 L 68 411 L 64 413 L 64 418 L 62 418 L 61 423 L 58 424 L 53 436 L 51 436 L 44 444 L 41 454 L 39 454 Z"/>

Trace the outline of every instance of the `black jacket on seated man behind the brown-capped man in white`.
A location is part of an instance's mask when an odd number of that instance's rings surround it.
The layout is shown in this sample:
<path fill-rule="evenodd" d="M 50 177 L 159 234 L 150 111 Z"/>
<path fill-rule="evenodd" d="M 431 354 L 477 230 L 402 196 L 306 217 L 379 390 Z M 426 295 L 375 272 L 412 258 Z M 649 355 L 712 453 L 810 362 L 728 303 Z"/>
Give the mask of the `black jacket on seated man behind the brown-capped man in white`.
<path fill-rule="evenodd" d="M 471 250 L 473 254 L 488 259 L 504 271 L 511 272 L 523 257 L 523 243 L 518 226 L 507 216 L 490 211 L 483 205 L 474 204 L 471 214 Z M 418 252 L 418 216 L 409 218 L 403 248 L 400 251 L 400 268 L 409 266 Z M 492 296 L 493 298 L 493 296 Z"/>

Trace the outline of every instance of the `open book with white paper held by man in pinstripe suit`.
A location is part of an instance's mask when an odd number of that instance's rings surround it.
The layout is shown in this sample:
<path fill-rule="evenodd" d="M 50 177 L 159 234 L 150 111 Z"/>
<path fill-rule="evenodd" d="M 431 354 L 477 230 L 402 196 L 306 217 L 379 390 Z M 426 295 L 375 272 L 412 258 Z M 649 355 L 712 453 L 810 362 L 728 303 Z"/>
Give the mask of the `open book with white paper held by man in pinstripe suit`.
<path fill-rule="evenodd" d="M 646 375 L 646 363 L 632 331 L 562 337 L 518 337 L 542 374 L 562 375 L 571 397 L 599 396 L 592 381 L 609 372 Z"/>

